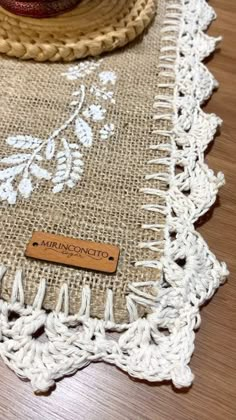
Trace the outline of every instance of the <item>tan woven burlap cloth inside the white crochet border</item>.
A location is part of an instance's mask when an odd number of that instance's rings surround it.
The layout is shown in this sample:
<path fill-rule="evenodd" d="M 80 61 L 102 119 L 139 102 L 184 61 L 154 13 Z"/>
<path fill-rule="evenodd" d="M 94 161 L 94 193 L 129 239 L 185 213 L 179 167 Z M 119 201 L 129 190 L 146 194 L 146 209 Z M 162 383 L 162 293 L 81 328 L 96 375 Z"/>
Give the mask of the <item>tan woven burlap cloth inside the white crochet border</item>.
<path fill-rule="evenodd" d="M 2 58 L 2 169 L 19 168 L 20 165 L 27 168 L 31 162 L 27 179 L 32 188 L 29 197 L 25 198 L 28 194 L 24 187 L 20 191 L 25 177 L 23 169 L 12 181 L 17 193 L 16 203 L 9 206 L 10 197 L 2 203 L 2 258 L 10 268 L 3 282 L 5 299 L 11 295 L 13 273 L 23 268 L 26 303 L 32 304 L 40 280 L 45 278 L 44 307 L 54 309 L 60 288 L 66 282 L 70 289 L 70 312 L 76 313 L 81 306 L 82 289 L 87 285 L 91 290 L 91 316 L 103 318 L 107 290 L 110 289 L 114 294 L 114 319 L 124 322 L 128 320 L 128 284 L 158 280 L 156 269 L 137 269 L 134 263 L 153 259 L 156 255 L 154 251 L 140 247 L 142 242 L 151 239 L 150 232 L 142 229 L 142 225 L 164 222 L 161 214 L 157 213 L 153 218 L 153 214 L 143 208 L 144 204 L 161 199 L 150 196 L 147 200 L 140 192 L 145 186 L 160 187 L 160 182 L 145 181 L 145 176 L 148 160 L 156 156 L 156 152 L 149 149 L 154 141 L 152 106 L 158 72 L 158 56 L 152 52 L 158 46 L 161 13 L 163 8 L 159 8 L 156 25 L 135 47 L 102 61 L 87 61 L 71 67 Z M 143 75 L 140 78 L 141 68 Z M 70 105 L 77 99 L 78 103 Z M 54 137 L 51 146 L 54 151 L 46 156 L 52 133 L 78 108 L 78 115 Z M 84 139 L 86 130 L 87 138 Z M 25 143 L 23 137 L 17 140 L 16 136 L 25 136 Z M 37 155 L 32 158 L 36 149 L 30 141 L 31 148 L 27 147 L 27 136 L 42 141 L 37 153 L 42 160 L 38 161 Z M 16 138 L 15 143 L 12 137 Z M 71 149 L 67 159 L 64 155 L 58 158 L 58 154 L 61 156 L 67 148 L 63 139 L 67 144 L 78 145 L 78 149 Z M 15 157 L 17 152 L 18 158 Z M 78 153 L 82 154 L 81 158 Z M 10 163 L 12 155 L 11 162 L 15 160 L 15 164 Z M 74 171 L 78 179 L 71 188 L 68 186 L 73 182 L 72 162 L 71 173 L 64 180 L 62 174 L 63 189 L 55 193 L 56 185 L 61 184 L 55 182 L 57 174 L 64 170 L 59 168 L 58 171 L 58 165 L 62 162 L 69 167 L 71 158 L 78 163 L 78 172 Z M 37 173 L 35 164 L 47 172 Z M 47 179 L 49 176 L 51 179 Z M 27 259 L 24 251 L 33 231 L 118 245 L 121 256 L 117 273 L 105 275 Z M 155 240 L 162 239 L 160 230 L 155 234 Z M 161 255 L 163 246 L 160 244 L 159 248 Z M 139 310 L 140 314 L 145 313 L 144 307 Z"/>

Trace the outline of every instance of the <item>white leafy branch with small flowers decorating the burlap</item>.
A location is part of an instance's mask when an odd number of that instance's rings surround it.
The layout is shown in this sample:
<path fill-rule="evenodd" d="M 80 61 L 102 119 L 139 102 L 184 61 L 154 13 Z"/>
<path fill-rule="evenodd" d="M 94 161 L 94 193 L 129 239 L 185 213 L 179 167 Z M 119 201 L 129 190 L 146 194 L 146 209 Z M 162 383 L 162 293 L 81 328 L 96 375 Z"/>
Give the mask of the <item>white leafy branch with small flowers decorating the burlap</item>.
<path fill-rule="evenodd" d="M 85 78 L 101 62 L 102 60 L 82 62 L 70 67 L 63 75 L 70 81 Z M 89 97 L 95 96 L 97 101 L 115 103 L 114 92 L 106 87 L 115 83 L 115 73 L 103 71 L 98 74 L 98 85 L 88 87 L 87 91 L 83 84 L 77 87 L 72 93 L 74 99 L 70 103 L 74 111 L 47 139 L 24 134 L 6 139 L 6 144 L 18 149 L 19 153 L 0 159 L 0 200 L 15 204 L 18 195 L 29 198 L 38 184 L 37 180 L 51 180 L 54 184 L 53 193 L 62 191 L 64 187 L 73 188 L 78 183 L 83 173 L 82 153 L 79 149 L 92 146 L 93 125 L 101 123 L 107 112 L 99 103 L 89 104 Z M 83 109 L 85 99 L 87 103 Z M 68 141 L 64 133 L 70 126 L 73 127 L 78 143 Z M 114 125 L 107 123 L 100 128 L 100 138 L 107 139 L 113 132 Z"/>

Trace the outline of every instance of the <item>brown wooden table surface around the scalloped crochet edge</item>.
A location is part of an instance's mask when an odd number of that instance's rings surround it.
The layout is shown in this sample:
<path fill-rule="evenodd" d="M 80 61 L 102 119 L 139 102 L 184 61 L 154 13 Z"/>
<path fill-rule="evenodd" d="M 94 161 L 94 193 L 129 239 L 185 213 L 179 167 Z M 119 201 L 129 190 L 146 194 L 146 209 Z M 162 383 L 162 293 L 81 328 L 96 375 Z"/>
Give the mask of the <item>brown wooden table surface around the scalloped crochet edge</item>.
<path fill-rule="evenodd" d="M 191 361 L 195 383 L 188 391 L 170 384 L 134 381 L 115 367 L 94 364 L 57 383 L 48 396 L 35 396 L 28 382 L 0 362 L 0 420 L 231 420 L 236 419 L 236 80 L 235 0 L 210 0 L 218 20 L 209 33 L 222 34 L 208 65 L 220 82 L 206 109 L 224 120 L 207 157 L 225 173 L 227 184 L 199 229 L 231 275 L 202 309 Z"/>

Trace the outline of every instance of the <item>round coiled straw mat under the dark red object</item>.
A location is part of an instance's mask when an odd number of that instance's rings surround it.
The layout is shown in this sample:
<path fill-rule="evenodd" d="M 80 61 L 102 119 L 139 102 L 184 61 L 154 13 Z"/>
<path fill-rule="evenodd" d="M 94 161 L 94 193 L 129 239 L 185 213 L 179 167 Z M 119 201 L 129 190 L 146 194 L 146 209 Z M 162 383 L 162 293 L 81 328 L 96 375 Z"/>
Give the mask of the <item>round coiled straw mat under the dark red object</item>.
<path fill-rule="evenodd" d="M 34 19 L 0 7 L 0 53 L 36 61 L 96 56 L 134 40 L 155 9 L 156 0 L 81 0 L 70 12 Z"/>

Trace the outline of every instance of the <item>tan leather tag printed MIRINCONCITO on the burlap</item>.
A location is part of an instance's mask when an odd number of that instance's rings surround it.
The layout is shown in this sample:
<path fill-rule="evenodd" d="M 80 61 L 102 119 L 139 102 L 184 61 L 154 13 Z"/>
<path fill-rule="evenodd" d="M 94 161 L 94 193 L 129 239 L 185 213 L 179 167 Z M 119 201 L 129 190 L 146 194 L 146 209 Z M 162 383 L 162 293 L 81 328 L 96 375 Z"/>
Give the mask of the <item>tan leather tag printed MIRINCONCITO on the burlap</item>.
<path fill-rule="evenodd" d="M 115 273 L 119 254 L 115 245 L 46 232 L 34 232 L 25 251 L 27 257 L 103 273 Z"/>

